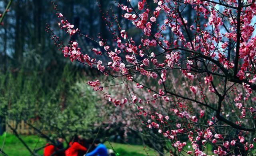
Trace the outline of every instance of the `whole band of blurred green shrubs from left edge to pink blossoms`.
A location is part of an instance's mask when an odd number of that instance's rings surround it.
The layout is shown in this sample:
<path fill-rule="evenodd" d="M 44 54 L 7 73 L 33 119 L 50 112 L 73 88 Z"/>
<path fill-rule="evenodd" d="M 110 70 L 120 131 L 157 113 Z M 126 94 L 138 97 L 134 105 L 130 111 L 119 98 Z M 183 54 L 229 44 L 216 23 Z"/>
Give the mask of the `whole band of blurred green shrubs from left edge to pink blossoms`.
<path fill-rule="evenodd" d="M 25 120 L 50 137 L 86 133 L 96 129 L 100 98 L 76 74 L 76 68 L 66 65 L 57 73 L 42 70 L 0 74 L 0 117 Z M 97 107 L 97 108 L 96 108 Z"/>

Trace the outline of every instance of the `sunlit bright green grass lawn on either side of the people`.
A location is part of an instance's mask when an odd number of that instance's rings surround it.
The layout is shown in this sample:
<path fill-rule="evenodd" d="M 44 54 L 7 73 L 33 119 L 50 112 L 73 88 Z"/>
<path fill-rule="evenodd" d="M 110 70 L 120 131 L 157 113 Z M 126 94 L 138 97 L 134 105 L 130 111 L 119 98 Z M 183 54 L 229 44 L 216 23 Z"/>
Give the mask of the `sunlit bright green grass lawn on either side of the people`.
<path fill-rule="evenodd" d="M 36 135 L 21 135 L 20 137 L 24 140 L 24 142 L 26 142 L 31 150 L 33 150 L 35 147 L 40 148 L 46 144 L 45 139 L 38 138 L 38 136 Z M 115 142 L 105 142 L 104 144 L 107 148 L 113 149 L 116 152 L 117 156 L 158 156 L 158 153 L 152 148 L 149 148 L 148 146 L 144 147 L 142 145 L 120 144 Z M 0 136 L 0 148 L 2 147 L 4 147 L 3 150 L 4 152 L 6 152 L 6 154 L 8 154 L 8 156 L 30 156 L 30 152 L 15 135 L 4 134 Z M 185 151 L 188 151 L 192 150 L 192 147 L 190 146 L 190 144 L 188 144 L 183 149 Z M 212 154 L 210 149 L 210 144 L 207 144 L 204 152 L 207 154 Z M 43 149 L 39 150 L 37 153 L 42 155 Z M 181 153 L 184 156 L 188 155 L 185 152 Z M 167 153 L 166 156 L 168 155 L 169 154 Z"/>

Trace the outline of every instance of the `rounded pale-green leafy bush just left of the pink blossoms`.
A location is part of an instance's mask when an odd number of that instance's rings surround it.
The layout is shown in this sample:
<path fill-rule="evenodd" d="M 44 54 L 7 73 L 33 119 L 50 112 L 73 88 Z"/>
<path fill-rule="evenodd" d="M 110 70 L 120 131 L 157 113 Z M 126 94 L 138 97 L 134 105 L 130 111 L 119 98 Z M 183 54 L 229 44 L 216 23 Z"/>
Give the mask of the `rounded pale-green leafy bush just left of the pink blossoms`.
<path fill-rule="evenodd" d="M 65 100 L 64 103 L 61 103 L 62 100 Z M 70 136 L 90 135 L 88 130 L 94 129 L 93 123 L 101 120 L 97 117 L 99 110 L 96 109 L 96 102 L 98 100 L 96 93 L 92 92 L 86 83 L 75 82 L 74 86 L 67 91 L 66 97 L 60 99 L 60 103 L 48 103 L 51 109 L 47 109 L 47 113 L 40 113 L 40 116 L 52 127 L 61 129 L 62 133 L 69 133 Z M 55 113 L 52 114 L 52 111 Z"/>

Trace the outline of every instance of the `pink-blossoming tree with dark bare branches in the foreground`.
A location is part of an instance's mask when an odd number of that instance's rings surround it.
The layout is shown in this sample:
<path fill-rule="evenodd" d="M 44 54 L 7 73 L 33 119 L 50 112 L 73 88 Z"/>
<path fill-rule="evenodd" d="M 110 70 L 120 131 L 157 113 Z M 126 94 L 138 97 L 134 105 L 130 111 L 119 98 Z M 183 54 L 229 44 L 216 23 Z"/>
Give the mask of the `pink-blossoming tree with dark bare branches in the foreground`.
<path fill-rule="evenodd" d="M 220 156 L 255 152 L 255 0 L 149 1 L 116 2 L 122 17 L 140 29 L 140 42 L 129 37 L 115 12 L 103 16 L 112 40 L 82 34 L 54 2 L 60 29 L 99 46 L 83 51 L 76 41 L 61 41 L 50 25 L 46 31 L 64 57 L 108 76 L 105 82 L 89 81 L 93 90 L 123 111 L 136 107 L 129 116 L 136 116 L 148 131 L 156 130 L 178 152 L 204 156 L 206 144 Z M 188 8 L 192 14 L 184 13 Z M 123 89 L 118 96 L 107 94 L 111 86 Z M 188 140 L 182 142 L 180 136 Z M 192 148 L 186 150 L 186 144 Z"/>

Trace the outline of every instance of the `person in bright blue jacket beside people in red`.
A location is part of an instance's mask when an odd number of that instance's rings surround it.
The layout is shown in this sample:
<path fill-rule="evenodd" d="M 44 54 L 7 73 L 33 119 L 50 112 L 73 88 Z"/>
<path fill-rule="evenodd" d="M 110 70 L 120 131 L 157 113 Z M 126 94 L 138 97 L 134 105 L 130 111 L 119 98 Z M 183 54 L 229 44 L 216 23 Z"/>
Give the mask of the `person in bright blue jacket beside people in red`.
<path fill-rule="evenodd" d="M 92 152 L 84 154 L 84 156 L 108 156 L 108 150 L 106 146 L 100 142 L 100 139 L 96 139 L 94 145 L 96 148 Z"/>

